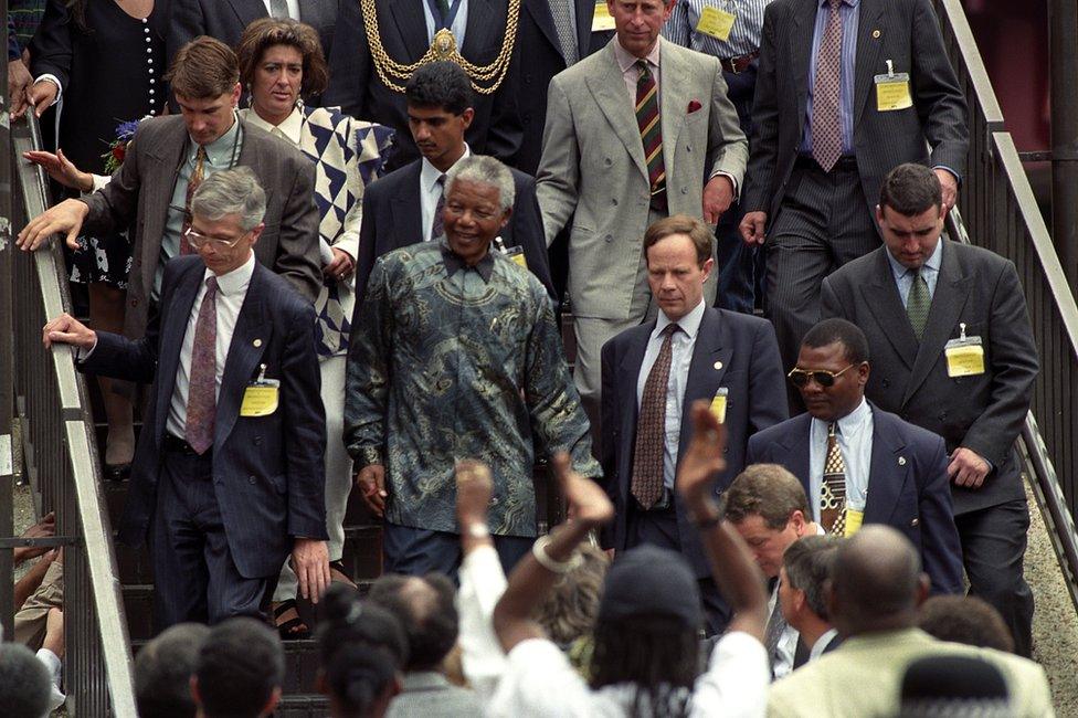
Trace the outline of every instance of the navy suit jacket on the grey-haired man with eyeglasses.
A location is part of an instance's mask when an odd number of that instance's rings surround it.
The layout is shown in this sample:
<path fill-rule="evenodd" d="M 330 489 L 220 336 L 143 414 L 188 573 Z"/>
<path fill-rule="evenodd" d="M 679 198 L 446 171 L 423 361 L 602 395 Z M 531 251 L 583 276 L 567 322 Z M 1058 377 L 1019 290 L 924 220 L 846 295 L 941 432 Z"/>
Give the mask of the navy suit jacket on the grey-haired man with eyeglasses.
<path fill-rule="evenodd" d="M 99 331 L 80 367 L 106 377 L 155 382 L 124 507 L 119 538 L 140 546 L 157 505 L 161 443 L 183 336 L 205 265 L 177 257 L 165 267 L 161 309 L 146 336 L 131 341 Z M 281 381 L 277 410 L 240 416 L 246 386 L 265 365 Z M 233 560 L 244 578 L 276 576 L 293 538 L 326 539 L 323 409 L 315 314 L 288 283 L 255 263 L 236 319 L 218 395 L 213 487 Z"/>

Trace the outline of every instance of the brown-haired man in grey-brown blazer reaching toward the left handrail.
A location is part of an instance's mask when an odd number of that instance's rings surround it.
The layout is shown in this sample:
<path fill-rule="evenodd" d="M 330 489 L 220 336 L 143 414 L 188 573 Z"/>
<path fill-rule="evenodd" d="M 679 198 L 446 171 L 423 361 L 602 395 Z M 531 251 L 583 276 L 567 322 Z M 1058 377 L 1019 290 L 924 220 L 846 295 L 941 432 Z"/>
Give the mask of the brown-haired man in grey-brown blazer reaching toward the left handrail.
<path fill-rule="evenodd" d="M 220 41 L 199 38 L 189 43 L 169 77 L 182 115 L 144 120 L 112 180 L 32 220 L 19 234 L 20 246 L 35 250 L 61 232 L 74 249 L 83 232 L 104 236 L 134 225 L 124 335 L 141 337 L 150 305 L 161 296 L 166 262 L 187 253 L 182 234 L 189 225 L 192 176 L 201 170 L 205 179 L 221 169 L 246 166 L 267 196 L 266 226 L 254 247 L 255 258 L 314 302 L 321 287 L 314 165 L 236 117 L 240 71 L 235 53 Z"/>

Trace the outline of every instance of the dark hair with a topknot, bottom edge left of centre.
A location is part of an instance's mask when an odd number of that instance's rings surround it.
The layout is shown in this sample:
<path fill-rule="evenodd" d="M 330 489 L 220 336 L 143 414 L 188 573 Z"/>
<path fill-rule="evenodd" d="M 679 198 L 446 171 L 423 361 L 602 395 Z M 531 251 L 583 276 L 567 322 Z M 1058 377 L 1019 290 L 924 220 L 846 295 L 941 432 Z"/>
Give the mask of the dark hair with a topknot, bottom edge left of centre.
<path fill-rule="evenodd" d="M 391 613 L 362 603 L 355 589 L 326 594 L 318 653 L 339 718 L 368 716 L 408 661 L 408 638 Z"/>

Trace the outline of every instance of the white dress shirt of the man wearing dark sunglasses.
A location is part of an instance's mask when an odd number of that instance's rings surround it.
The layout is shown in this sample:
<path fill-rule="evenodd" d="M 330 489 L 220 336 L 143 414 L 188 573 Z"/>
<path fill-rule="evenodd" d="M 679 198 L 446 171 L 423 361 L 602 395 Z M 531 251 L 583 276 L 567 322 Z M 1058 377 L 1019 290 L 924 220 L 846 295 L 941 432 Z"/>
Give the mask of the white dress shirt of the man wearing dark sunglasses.
<path fill-rule="evenodd" d="M 853 370 L 850 370 L 853 371 Z M 846 463 L 846 508 L 865 510 L 868 499 L 868 473 L 873 463 L 873 408 L 864 399 L 860 405 L 838 420 L 835 434 Z M 827 422 L 813 419 L 808 424 L 808 504 L 812 520 L 820 520 L 824 462 L 827 458 Z"/>

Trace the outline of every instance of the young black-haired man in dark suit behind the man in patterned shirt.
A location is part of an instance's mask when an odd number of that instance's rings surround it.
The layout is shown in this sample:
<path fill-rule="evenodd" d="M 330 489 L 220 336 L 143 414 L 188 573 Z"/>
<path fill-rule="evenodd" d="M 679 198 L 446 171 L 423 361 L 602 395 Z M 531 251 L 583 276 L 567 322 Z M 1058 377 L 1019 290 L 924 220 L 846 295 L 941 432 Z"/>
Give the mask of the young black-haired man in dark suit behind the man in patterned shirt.
<path fill-rule="evenodd" d="M 409 129 L 423 157 L 372 182 L 363 193 L 356 260 L 357 310 L 378 257 L 442 235 L 444 181 L 440 183 L 438 177 L 472 154 L 464 138 L 475 118 L 474 95 L 459 66 L 443 61 L 420 67 L 409 80 L 405 95 Z M 518 170 L 510 171 L 516 199 L 509 223 L 500 233 L 503 244 L 507 250 L 524 250 L 528 268 L 553 297 L 536 181 Z"/>

